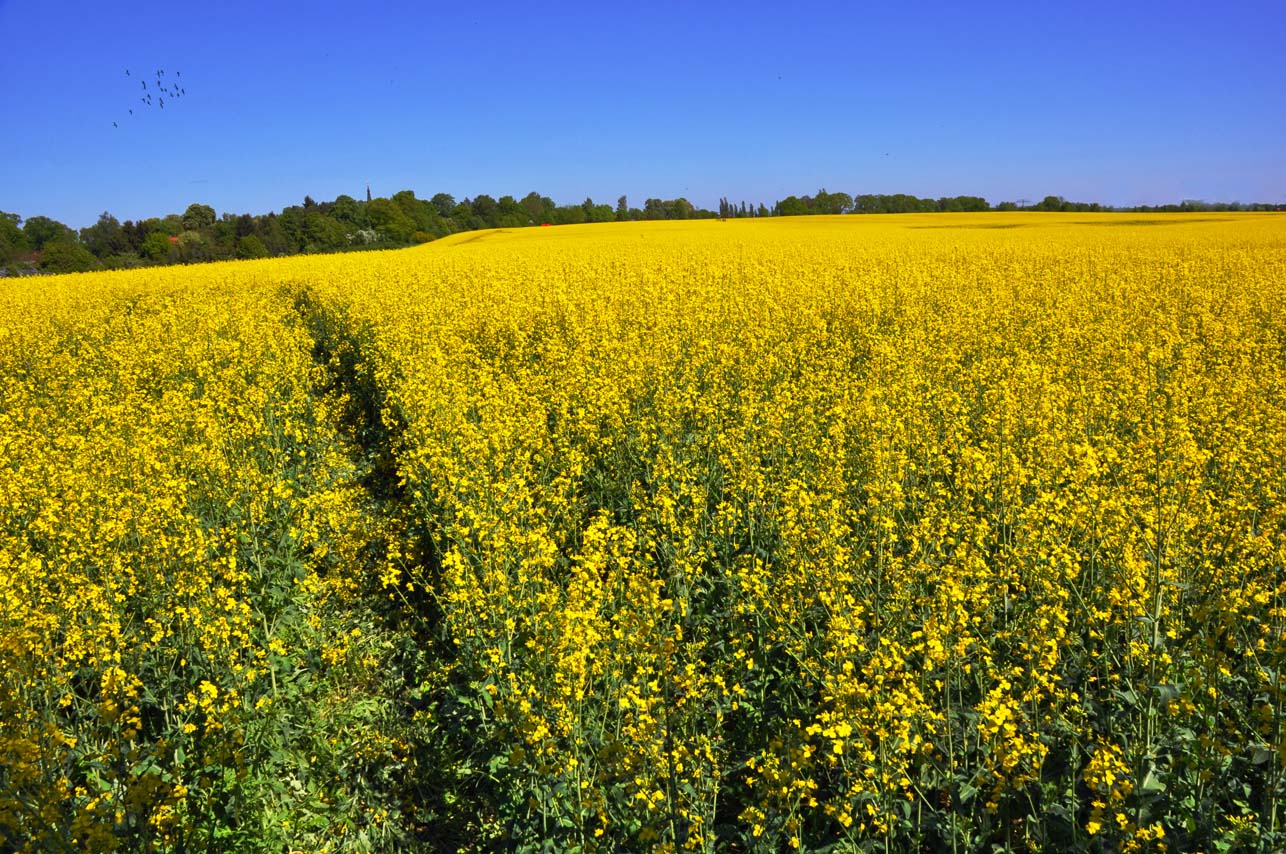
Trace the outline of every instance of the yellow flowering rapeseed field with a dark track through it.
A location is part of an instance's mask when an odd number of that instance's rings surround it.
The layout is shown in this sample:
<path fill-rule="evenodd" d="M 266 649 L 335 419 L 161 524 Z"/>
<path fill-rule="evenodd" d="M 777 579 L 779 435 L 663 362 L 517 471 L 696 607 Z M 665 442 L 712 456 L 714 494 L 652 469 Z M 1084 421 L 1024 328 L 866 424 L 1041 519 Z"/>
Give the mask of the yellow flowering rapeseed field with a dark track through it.
<path fill-rule="evenodd" d="M 1286 846 L 1286 219 L 0 283 L 0 848 Z"/>

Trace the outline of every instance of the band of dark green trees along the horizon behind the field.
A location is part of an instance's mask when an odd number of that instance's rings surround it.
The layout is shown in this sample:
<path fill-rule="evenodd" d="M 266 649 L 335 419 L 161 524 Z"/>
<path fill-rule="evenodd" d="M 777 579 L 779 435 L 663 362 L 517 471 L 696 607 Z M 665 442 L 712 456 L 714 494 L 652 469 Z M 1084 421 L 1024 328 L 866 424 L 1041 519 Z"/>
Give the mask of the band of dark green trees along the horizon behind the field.
<path fill-rule="evenodd" d="M 401 190 L 391 198 L 359 201 L 340 195 L 333 202 L 305 197 L 279 212 L 216 215 L 208 204 L 189 204 L 183 214 L 121 223 L 108 212 L 80 232 L 46 216 L 26 220 L 0 211 L 0 275 L 76 273 L 159 264 L 190 264 L 228 259 L 261 259 L 312 252 L 395 248 L 427 243 L 448 234 L 490 228 L 571 225 L 634 220 L 739 219 L 837 214 L 928 214 L 970 211 L 1258 211 L 1280 206 L 1184 201 L 1179 204 L 1112 208 L 1097 202 L 1069 202 L 1047 195 L 995 206 L 980 195 L 918 198 L 904 193 L 828 193 L 788 195 L 764 203 L 719 199 L 719 210 L 694 206 L 685 198 L 649 198 L 630 207 L 621 195 L 616 204 L 586 198 L 580 204 L 556 204 L 548 195 L 529 193 L 493 198 L 481 194 L 457 201 L 449 193 L 417 198 Z"/>

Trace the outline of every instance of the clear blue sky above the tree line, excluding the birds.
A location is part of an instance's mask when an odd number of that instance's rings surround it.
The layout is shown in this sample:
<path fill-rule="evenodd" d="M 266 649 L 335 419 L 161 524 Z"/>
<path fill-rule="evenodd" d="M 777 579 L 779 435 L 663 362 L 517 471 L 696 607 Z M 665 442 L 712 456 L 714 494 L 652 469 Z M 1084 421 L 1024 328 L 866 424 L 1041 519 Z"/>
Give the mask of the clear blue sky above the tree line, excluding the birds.
<path fill-rule="evenodd" d="M 0 0 L 0 210 L 76 228 L 368 181 L 1286 202 L 1281 0 Z"/>

